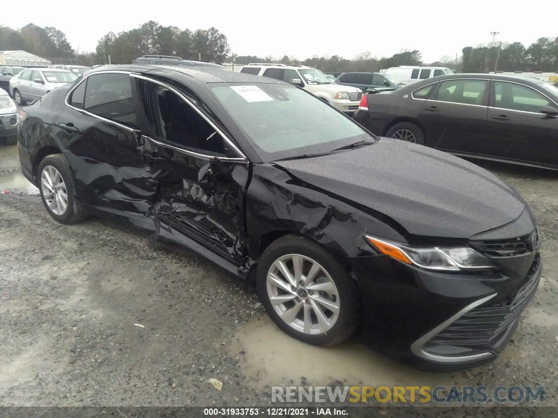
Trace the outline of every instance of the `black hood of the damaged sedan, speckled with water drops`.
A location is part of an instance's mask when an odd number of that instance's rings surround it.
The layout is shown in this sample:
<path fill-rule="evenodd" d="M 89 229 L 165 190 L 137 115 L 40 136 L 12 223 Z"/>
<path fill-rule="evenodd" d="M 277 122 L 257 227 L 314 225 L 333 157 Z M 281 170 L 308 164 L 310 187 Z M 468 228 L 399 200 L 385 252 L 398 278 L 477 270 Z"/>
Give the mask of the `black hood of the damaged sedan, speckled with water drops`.
<path fill-rule="evenodd" d="M 515 189 L 485 169 L 397 139 L 276 164 L 391 217 L 413 235 L 468 238 L 516 220 L 526 208 Z"/>

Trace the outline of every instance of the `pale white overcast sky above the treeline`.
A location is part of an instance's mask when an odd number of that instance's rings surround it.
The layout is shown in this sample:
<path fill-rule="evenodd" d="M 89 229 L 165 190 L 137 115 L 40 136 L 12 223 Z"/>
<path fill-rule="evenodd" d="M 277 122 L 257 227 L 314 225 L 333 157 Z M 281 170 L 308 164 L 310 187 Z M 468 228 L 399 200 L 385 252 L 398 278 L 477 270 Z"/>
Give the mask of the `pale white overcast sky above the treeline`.
<path fill-rule="evenodd" d="M 126 5 L 129 4 L 129 6 Z M 556 36 L 556 14 L 537 9 L 536 24 L 521 19 L 513 3 L 468 2 L 278 2 L 253 0 L 203 2 L 64 3 L 51 9 L 44 1 L 31 0 L 25 13 L 8 13 L 2 24 L 21 28 L 27 23 L 54 26 L 66 33 L 79 51 L 94 51 L 109 31 L 131 30 L 154 20 L 163 26 L 190 30 L 216 27 L 227 36 L 238 55 L 340 55 L 353 58 L 371 51 L 378 58 L 402 48 L 422 52 L 425 62 L 455 56 L 465 46 L 497 41 L 526 45 L 541 36 Z M 354 6 L 352 6 L 354 4 Z M 425 5 L 425 6 L 423 6 Z M 72 8 L 72 6 L 75 6 Z M 46 7 L 46 9 L 45 9 Z M 367 10 L 367 8 L 369 10 Z M 532 10 L 528 9 L 527 13 Z M 8 17 L 9 15 L 9 17 Z M 535 15 L 533 15 L 535 16 Z M 524 22 L 524 23 L 522 23 Z"/>

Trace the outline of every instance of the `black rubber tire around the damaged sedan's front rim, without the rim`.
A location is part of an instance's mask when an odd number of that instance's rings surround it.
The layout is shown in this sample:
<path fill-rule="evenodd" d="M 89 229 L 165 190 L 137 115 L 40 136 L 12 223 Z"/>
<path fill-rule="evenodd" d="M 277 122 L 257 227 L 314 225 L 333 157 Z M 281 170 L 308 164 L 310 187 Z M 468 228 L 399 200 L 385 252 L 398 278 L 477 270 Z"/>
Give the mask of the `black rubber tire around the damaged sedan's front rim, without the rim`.
<path fill-rule="evenodd" d="M 273 303 L 270 300 L 270 295 L 268 294 L 268 273 L 270 273 L 273 265 L 276 263 L 277 260 L 280 260 L 282 257 L 288 257 L 290 255 L 300 255 L 307 260 L 314 261 L 318 263 L 323 270 L 326 271 L 333 281 L 335 285 L 336 293 L 339 295 L 338 305 L 339 305 L 339 313 L 338 317 L 333 324 L 333 327 L 326 330 L 324 333 L 320 334 L 307 334 L 301 332 L 293 327 L 290 324 L 287 324 L 285 320 L 283 320 L 280 315 L 276 312 L 273 307 Z M 308 265 L 310 268 L 310 263 L 305 261 L 304 265 Z M 288 266 L 288 264 L 287 264 Z M 290 271 L 293 272 L 294 268 L 291 265 Z M 301 269 L 304 272 L 304 268 Z M 308 275 L 309 271 L 305 272 Z M 323 271 L 321 271 L 323 273 Z M 316 285 L 326 285 L 323 283 L 319 283 L 318 280 L 324 280 L 325 274 L 322 274 L 323 278 L 320 279 L 319 274 L 316 274 L 315 283 Z M 347 270 L 343 268 L 343 266 L 332 256 L 328 251 L 326 251 L 323 247 L 307 240 L 303 237 L 297 235 L 286 235 L 283 236 L 276 241 L 272 242 L 270 246 L 263 252 L 262 257 L 258 263 L 257 273 L 256 273 L 256 281 L 258 286 L 258 292 L 262 299 L 262 303 L 268 315 L 270 315 L 273 322 L 277 324 L 281 330 L 287 333 L 289 336 L 296 338 L 302 342 L 307 344 L 312 344 L 315 346 L 322 346 L 322 347 L 329 347 L 335 346 L 346 341 L 358 327 L 358 313 L 359 313 L 359 298 L 358 298 L 358 288 L 357 285 L 354 283 L 354 280 L 349 276 Z M 330 285 L 330 284 L 327 284 Z M 307 300 L 302 301 L 302 307 L 300 308 L 300 315 L 304 315 L 303 312 L 306 307 L 312 308 L 312 304 L 317 302 L 310 302 L 310 293 L 318 296 L 317 293 L 314 293 L 312 290 L 309 290 L 311 286 L 306 288 L 307 291 Z M 304 288 L 304 286 L 298 286 L 297 289 L 292 289 L 292 294 L 296 295 L 298 298 L 298 293 L 300 288 Z M 283 290 L 285 294 L 285 292 Z M 320 293 L 320 297 L 323 295 L 323 292 Z M 314 299 L 315 300 L 315 299 Z M 295 303 L 295 302 L 293 302 Z M 305 307 L 306 305 L 306 307 Z M 323 307 L 323 305 L 320 305 Z M 322 310 L 323 311 L 323 310 Z M 315 313 L 314 313 L 315 315 Z M 330 317 L 331 318 L 331 317 Z M 314 319 L 317 320 L 316 317 Z"/>

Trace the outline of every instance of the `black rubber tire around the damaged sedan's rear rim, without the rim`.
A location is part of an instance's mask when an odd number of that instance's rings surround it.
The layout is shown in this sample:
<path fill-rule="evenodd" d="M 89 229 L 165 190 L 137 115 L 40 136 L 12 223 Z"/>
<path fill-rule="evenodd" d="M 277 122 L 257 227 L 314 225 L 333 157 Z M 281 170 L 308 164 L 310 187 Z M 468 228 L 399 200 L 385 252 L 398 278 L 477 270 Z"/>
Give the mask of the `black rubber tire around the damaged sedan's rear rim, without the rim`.
<path fill-rule="evenodd" d="M 56 214 L 54 213 L 49 204 L 46 201 L 44 192 L 43 192 L 43 185 L 41 184 L 42 173 L 45 168 L 54 167 L 58 173 L 60 173 L 60 177 L 64 182 L 63 189 L 65 190 L 65 194 L 67 197 L 67 206 L 64 213 Z M 89 215 L 88 213 L 84 212 L 80 204 L 74 199 L 74 177 L 71 174 L 70 166 L 66 161 L 66 158 L 62 154 L 51 154 L 47 155 L 39 164 L 39 169 L 37 170 L 37 187 L 39 187 L 39 191 L 41 193 L 41 200 L 45 205 L 46 211 L 49 212 L 49 215 L 52 216 L 56 221 L 60 223 L 76 223 L 83 221 Z M 62 189 L 62 188 L 60 188 Z"/>

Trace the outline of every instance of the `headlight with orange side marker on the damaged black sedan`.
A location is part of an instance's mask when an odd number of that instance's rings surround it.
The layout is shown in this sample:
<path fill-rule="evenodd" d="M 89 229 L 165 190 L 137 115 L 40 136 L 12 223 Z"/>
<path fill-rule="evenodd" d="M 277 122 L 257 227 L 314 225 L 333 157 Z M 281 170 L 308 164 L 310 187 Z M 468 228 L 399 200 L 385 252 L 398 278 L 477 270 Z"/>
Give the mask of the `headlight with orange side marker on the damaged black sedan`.
<path fill-rule="evenodd" d="M 470 271 L 496 268 L 492 261 L 471 247 L 413 247 L 400 242 L 379 240 L 370 235 L 364 235 L 364 238 L 380 254 L 422 269 Z"/>

